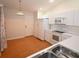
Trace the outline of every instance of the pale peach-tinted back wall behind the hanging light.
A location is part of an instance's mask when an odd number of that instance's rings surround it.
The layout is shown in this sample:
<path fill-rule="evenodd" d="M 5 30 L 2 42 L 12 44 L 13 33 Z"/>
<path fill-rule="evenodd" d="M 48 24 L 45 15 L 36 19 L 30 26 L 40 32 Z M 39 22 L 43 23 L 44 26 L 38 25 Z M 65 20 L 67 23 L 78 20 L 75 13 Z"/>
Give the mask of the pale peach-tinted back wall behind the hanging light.
<path fill-rule="evenodd" d="M 7 39 L 33 35 L 33 13 L 26 11 L 24 16 L 18 16 L 16 15 L 17 10 L 5 8 L 4 11 Z"/>

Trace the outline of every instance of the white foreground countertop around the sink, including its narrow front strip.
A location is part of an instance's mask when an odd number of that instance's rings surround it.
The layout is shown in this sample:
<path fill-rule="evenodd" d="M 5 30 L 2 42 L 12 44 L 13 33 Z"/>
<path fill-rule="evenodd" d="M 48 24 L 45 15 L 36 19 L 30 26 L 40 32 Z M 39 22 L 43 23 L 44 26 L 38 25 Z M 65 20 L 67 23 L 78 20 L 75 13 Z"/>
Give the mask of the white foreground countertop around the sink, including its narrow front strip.
<path fill-rule="evenodd" d="M 64 33 L 64 34 L 68 34 L 68 33 Z M 42 52 L 44 51 L 47 51 L 49 50 L 50 48 L 53 48 L 54 46 L 56 45 L 62 45 L 64 47 L 67 47 L 69 49 L 71 49 L 72 51 L 75 51 L 76 53 L 79 53 L 79 36 L 76 36 L 76 35 L 72 35 L 72 34 L 68 34 L 68 35 L 71 35 L 70 38 L 66 39 L 66 40 L 63 40 L 57 44 L 54 44 L 46 49 L 43 49 L 35 54 L 32 54 L 31 56 L 28 56 L 27 58 L 32 58 L 33 56 L 36 56 L 38 54 L 41 54 Z"/>

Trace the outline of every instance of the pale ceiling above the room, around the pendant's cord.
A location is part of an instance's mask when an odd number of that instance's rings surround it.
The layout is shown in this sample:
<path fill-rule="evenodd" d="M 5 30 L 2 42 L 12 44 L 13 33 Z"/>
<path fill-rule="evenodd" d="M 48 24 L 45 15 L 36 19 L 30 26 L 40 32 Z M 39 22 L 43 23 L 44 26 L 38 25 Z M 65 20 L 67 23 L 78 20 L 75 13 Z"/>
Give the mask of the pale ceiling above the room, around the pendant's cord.
<path fill-rule="evenodd" d="M 55 5 L 63 0 L 55 0 L 53 3 L 49 3 L 49 0 L 22 0 L 22 7 L 24 10 L 37 11 L 39 8 L 47 10 L 53 8 Z M 4 4 L 7 8 L 18 9 L 18 0 L 0 0 L 1 4 Z"/>

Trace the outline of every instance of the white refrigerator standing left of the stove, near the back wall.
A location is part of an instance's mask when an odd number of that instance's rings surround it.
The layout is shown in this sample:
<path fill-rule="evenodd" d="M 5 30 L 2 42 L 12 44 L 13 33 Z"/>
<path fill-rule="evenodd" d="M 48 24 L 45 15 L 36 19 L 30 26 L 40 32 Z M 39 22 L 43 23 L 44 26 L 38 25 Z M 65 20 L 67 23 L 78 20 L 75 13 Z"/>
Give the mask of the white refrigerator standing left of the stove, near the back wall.
<path fill-rule="evenodd" d="M 48 18 L 38 19 L 38 38 L 45 40 L 45 31 L 49 30 Z"/>

